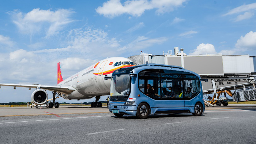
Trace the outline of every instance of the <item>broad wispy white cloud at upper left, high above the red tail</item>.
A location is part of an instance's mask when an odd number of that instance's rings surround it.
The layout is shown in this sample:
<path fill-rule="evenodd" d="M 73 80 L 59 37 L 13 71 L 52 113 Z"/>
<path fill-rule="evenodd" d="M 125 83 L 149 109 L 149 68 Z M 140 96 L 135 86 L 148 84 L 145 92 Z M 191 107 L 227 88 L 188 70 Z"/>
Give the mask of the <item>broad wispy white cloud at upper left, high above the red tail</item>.
<path fill-rule="evenodd" d="M 46 37 L 49 37 L 71 23 L 73 20 L 69 17 L 73 13 L 74 11 L 67 9 L 51 11 L 35 8 L 26 14 L 18 10 L 9 14 L 12 15 L 13 22 L 19 28 L 20 33 L 34 35 L 44 31 Z"/>

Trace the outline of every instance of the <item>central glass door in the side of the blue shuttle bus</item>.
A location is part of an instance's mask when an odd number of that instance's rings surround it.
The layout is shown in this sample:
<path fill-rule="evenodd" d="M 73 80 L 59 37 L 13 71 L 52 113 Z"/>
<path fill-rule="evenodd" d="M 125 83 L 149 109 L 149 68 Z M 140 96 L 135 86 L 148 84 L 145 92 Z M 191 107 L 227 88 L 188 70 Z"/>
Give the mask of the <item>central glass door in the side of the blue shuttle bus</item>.
<path fill-rule="evenodd" d="M 163 113 L 184 113 L 183 77 L 175 71 L 161 70 L 161 107 Z M 158 112 L 159 113 L 159 112 Z"/>

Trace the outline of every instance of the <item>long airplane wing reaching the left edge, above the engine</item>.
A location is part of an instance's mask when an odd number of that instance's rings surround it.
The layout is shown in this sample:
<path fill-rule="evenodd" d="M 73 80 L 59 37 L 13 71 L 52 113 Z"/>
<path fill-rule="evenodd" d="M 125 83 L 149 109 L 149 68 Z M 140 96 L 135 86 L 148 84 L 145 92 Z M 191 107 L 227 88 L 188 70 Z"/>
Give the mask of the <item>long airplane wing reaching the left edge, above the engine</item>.
<path fill-rule="evenodd" d="M 76 89 L 73 86 L 46 86 L 46 85 L 39 85 L 39 84 L 3 84 L 0 83 L 1 86 L 10 86 L 10 87 L 27 87 L 27 88 L 37 88 L 37 89 L 43 89 L 43 90 L 49 90 L 49 91 L 56 91 L 60 92 L 61 94 L 68 95 L 72 91 L 75 91 Z"/>

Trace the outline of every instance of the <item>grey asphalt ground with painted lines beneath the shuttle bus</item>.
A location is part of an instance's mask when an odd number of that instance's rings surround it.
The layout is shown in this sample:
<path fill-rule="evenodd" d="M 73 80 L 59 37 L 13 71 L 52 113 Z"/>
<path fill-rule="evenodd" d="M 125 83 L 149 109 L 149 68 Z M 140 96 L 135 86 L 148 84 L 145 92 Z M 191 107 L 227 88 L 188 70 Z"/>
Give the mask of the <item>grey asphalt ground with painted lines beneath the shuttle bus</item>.
<path fill-rule="evenodd" d="M 18 110 L 17 107 L 0 108 L 0 114 L 7 109 L 8 115 Z M 23 113 L 30 111 L 20 109 Z M 152 115 L 146 120 L 133 116 L 117 118 L 107 112 L 106 107 L 34 110 L 48 114 L 1 116 L 0 143 L 255 144 L 256 105 L 206 107 L 200 117 L 192 114 Z M 73 113 L 64 114 L 65 111 Z"/>

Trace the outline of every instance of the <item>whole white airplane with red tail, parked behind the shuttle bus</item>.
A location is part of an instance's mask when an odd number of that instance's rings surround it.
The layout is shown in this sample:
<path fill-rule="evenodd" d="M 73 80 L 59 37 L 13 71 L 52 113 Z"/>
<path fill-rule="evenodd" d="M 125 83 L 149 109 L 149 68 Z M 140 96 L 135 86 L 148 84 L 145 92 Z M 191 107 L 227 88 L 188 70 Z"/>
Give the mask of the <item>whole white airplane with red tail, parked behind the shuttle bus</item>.
<path fill-rule="evenodd" d="M 60 62 L 57 64 L 57 86 L 46 86 L 39 84 L 1 84 L 1 86 L 12 86 L 36 88 L 31 94 L 31 101 L 36 105 L 42 105 L 48 100 L 46 90 L 53 92 L 53 102 L 49 103 L 49 108 L 53 106 L 59 107 L 59 103 L 55 102 L 56 94 L 58 97 L 64 99 L 90 99 L 95 97 L 96 101 L 91 103 L 91 107 L 102 107 L 102 103 L 98 102 L 100 96 L 110 94 L 110 81 L 104 80 L 105 76 L 112 75 L 112 73 L 120 68 L 127 68 L 135 66 L 135 64 L 124 57 L 111 57 L 106 58 L 91 65 L 90 67 L 76 73 L 63 80 L 60 68 Z"/>

